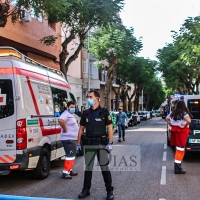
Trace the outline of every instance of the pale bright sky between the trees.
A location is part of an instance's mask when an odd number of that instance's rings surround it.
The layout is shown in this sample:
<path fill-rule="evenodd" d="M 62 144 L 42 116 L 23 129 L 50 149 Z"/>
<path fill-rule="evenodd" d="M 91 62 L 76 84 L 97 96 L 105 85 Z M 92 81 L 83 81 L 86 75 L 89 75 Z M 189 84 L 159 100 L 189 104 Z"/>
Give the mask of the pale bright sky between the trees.
<path fill-rule="evenodd" d="M 199 0 L 125 0 L 120 13 L 123 24 L 142 37 L 143 50 L 138 56 L 157 60 L 158 49 L 172 42 L 171 31 L 179 31 L 188 17 L 200 15 Z"/>

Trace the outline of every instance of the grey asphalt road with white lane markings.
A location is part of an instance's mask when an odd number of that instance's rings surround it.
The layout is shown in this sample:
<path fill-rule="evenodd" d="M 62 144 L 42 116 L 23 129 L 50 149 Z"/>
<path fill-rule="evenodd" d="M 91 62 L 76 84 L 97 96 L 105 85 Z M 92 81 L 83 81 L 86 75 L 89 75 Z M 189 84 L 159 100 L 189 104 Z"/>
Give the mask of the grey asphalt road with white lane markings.
<path fill-rule="evenodd" d="M 143 121 L 126 129 L 126 141 L 114 135 L 111 168 L 115 200 L 198 200 L 200 199 L 200 153 L 186 154 L 184 175 L 173 172 L 174 150 L 166 145 L 166 123 L 160 118 Z M 72 180 L 61 178 L 62 161 L 51 164 L 45 180 L 35 180 L 31 171 L 0 177 L 0 193 L 6 195 L 78 199 L 83 185 L 83 157 L 77 157 Z M 95 167 L 91 195 L 86 200 L 103 200 L 106 190 L 101 172 Z"/>

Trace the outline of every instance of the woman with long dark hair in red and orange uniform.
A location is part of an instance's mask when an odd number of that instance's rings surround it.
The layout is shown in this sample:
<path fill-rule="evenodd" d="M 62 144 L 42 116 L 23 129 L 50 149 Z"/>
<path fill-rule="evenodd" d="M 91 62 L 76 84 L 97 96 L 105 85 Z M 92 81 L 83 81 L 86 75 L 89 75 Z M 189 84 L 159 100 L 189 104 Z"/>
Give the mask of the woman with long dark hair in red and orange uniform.
<path fill-rule="evenodd" d="M 191 123 L 191 113 L 187 109 L 184 101 L 178 101 L 174 110 L 167 115 L 166 122 L 171 126 L 170 145 L 176 147 L 174 156 L 174 173 L 185 174 L 181 164 L 185 155 L 185 145 L 187 142 Z"/>

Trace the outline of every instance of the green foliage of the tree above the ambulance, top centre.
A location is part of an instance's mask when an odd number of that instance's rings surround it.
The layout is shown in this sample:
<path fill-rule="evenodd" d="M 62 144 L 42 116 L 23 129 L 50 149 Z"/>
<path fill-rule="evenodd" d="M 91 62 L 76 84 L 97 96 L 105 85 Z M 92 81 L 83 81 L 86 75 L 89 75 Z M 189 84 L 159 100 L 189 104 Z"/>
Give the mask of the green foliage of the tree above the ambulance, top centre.
<path fill-rule="evenodd" d="M 59 12 L 48 10 L 48 19 L 52 23 L 65 24 L 69 33 L 87 33 L 92 27 L 108 26 L 120 21 L 118 13 L 124 0 L 68 0 L 68 6 Z M 65 9 L 66 8 L 66 9 Z"/>

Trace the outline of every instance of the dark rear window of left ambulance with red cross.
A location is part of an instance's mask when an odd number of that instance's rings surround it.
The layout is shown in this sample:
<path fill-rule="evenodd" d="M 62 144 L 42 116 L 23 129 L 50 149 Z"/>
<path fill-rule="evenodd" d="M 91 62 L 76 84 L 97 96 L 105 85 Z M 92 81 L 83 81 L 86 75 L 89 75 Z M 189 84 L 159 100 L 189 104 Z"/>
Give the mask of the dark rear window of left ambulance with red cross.
<path fill-rule="evenodd" d="M 0 119 L 14 114 L 12 81 L 0 80 Z"/>

